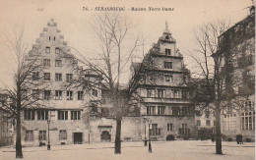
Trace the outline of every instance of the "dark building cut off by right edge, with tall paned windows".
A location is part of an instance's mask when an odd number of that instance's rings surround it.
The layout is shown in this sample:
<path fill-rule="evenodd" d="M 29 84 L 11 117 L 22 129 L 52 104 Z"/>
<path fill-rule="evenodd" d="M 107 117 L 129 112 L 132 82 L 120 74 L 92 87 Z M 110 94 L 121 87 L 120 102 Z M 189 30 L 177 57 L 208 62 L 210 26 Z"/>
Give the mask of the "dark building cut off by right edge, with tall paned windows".
<path fill-rule="evenodd" d="M 241 133 L 244 140 L 255 139 L 255 7 L 237 24 L 219 37 L 220 51 L 224 54 L 223 72 L 225 89 L 238 94 L 222 116 L 222 133 L 235 139 Z M 229 61 L 230 60 L 230 61 Z M 239 98 L 238 98 L 239 100 Z M 235 109 L 236 110 L 235 110 Z"/>

